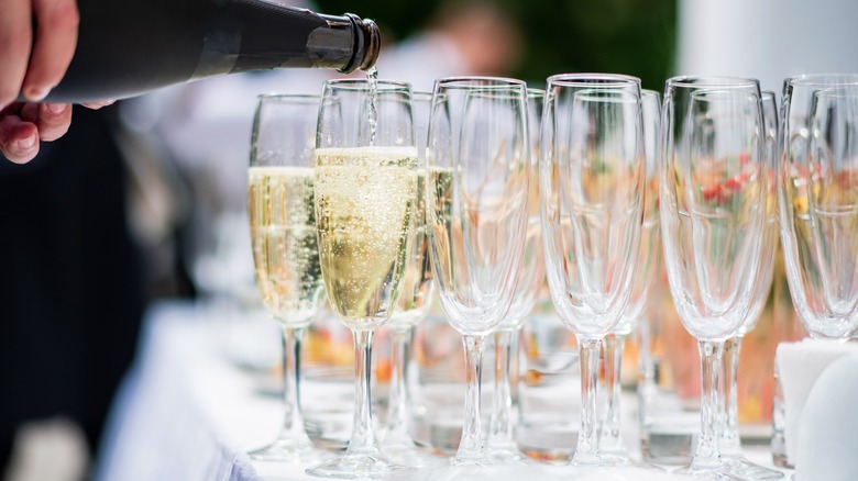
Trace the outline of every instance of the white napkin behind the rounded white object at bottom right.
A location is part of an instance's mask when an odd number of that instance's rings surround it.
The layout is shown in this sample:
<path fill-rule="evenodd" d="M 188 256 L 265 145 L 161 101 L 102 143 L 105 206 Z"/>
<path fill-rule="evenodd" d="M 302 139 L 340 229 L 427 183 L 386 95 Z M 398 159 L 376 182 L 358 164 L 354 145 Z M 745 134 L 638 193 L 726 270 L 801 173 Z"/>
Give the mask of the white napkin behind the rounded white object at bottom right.
<path fill-rule="evenodd" d="M 793 462 L 799 449 L 801 415 L 807 395 L 825 368 L 850 353 L 858 353 L 858 344 L 809 338 L 778 346 L 774 366 L 783 392 L 785 454 Z"/>

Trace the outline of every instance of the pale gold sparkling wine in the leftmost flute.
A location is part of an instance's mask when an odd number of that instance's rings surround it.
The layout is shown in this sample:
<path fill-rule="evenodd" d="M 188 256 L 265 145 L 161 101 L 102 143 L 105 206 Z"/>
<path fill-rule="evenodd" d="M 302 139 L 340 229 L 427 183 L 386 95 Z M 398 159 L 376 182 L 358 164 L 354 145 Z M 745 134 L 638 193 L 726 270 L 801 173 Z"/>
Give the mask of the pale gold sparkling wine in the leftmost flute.
<path fill-rule="evenodd" d="M 251 167 L 248 182 L 253 261 L 262 300 L 278 321 L 306 325 L 322 293 L 312 168 Z"/>

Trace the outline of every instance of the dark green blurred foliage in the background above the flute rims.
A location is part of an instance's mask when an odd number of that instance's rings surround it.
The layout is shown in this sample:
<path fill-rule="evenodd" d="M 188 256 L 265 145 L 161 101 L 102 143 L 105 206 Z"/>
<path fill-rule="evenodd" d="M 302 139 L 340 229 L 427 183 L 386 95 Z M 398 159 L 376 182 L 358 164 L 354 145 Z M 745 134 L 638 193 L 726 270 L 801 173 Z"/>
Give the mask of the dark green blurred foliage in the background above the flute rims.
<path fill-rule="evenodd" d="M 316 0 L 318 11 L 374 19 L 385 42 L 426 27 L 444 0 Z M 457 0 L 450 0 L 457 1 Z M 522 48 L 510 75 L 540 85 L 553 74 L 628 74 L 661 91 L 672 75 L 675 0 L 495 0 L 517 19 Z"/>

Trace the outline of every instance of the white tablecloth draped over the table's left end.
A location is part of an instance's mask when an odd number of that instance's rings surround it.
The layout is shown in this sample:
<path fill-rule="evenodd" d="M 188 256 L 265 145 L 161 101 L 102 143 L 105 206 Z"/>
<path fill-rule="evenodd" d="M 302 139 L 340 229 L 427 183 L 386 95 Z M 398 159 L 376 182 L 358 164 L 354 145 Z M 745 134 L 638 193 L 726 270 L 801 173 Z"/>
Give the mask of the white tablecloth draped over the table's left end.
<path fill-rule="evenodd" d="M 97 479 L 260 479 L 244 445 L 262 425 L 254 418 L 273 416 L 276 428 L 277 403 L 252 395 L 241 372 L 217 355 L 213 326 L 193 304 L 148 312 Z"/>

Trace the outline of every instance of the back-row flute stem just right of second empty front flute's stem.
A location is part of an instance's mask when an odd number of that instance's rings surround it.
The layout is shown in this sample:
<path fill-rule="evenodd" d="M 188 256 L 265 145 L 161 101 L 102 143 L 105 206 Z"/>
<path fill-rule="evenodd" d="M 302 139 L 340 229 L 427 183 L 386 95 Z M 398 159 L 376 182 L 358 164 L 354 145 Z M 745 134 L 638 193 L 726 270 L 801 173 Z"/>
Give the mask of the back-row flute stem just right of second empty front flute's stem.
<path fill-rule="evenodd" d="M 623 367 L 623 347 L 626 344 L 624 334 L 609 334 L 605 337 L 605 385 L 607 387 L 608 403 L 605 424 L 598 439 L 598 449 L 602 452 L 626 452 L 626 447 L 620 438 L 622 407 L 619 404 L 622 385 L 619 382 L 620 368 Z"/>

